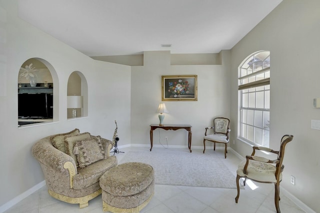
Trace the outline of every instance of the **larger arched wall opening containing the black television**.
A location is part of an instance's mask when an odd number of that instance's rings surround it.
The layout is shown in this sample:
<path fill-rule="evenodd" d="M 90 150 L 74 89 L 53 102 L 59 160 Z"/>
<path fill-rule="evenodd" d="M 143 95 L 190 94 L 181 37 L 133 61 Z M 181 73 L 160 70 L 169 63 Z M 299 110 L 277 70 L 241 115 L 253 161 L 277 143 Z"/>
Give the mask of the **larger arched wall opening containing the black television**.
<path fill-rule="evenodd" d="M 32 64 L 32 65 L 31 65 Z M 30 66 L 31 65 L 31 66 Z M 31 73 L 31 74 L 30 74 Z M 35 85 L 32 85 L 30 78 L 35 77 Z M 32 85 L 32 86 L 31 86 Z M 42 58 L 29 58 L 21 64 L 18 72 L 18 126 L 34 126 L 43 122 L 58 121 L 58 94 L 59 84 L 55 69 L 46 60 Z M 41 118 L 40 115 L 30 112 L 28 116 L 28 109 L 38 107 L 39 102 L 36 100 L 28 101 L 27 94 L 45 93 L 47 117 Z M 23 94 L 23 95 L 21 95 Z M 24 99 L 24 100 L 23 100 Z M 24 102 L 27 102 L 25 104 Z M 37 110 L 40 111 L 40 108 Z M 32 110 L 30 110 L 32 111 Z M 38 118 L 37 118 L 38 117 Z"/>

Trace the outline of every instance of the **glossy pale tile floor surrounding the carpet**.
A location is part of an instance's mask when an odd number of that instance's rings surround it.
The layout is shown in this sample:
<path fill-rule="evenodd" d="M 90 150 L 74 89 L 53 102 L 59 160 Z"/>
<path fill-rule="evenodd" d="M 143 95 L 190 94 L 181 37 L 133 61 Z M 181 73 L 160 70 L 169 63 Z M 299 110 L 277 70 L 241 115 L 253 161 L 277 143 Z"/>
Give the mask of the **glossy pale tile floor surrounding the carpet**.
<path fill-rule="evenodd" d="M 120 151 L 136 149 L 149 148 L 129 147 Z M 153 147 L 153 149 L 163 148 Z M 192 149 L 192 152 L 202 152 L 202 150 Z M 118 161 L 124 154 L 115 154 Z M 205 154 L 224 157 L 222 150 L 213 152 L 208 149 Z M 225 159 L 225 164 L 234 177 L 239 161 L 240 159 L 232 152 L 229 152 Z M 234 202 L 236 189 L 155 185 L 153 198 L 140 213 L 275 213 L 273 185 L 254 184 L 257 186 L 255 190 L 245 186 L 245 189 L 240 191 L 238 204 Z M 281 195 L 281 192 L 280 198 L 281 213 L 303 213 L 292 201 Z M 87 208 L 79 209 L 78 205 L 60 202 L 50 197 L 46 187 L 42 187 L 4 213 L 103 213 L 103 211 L 101 195 L 89 201 Z"/>

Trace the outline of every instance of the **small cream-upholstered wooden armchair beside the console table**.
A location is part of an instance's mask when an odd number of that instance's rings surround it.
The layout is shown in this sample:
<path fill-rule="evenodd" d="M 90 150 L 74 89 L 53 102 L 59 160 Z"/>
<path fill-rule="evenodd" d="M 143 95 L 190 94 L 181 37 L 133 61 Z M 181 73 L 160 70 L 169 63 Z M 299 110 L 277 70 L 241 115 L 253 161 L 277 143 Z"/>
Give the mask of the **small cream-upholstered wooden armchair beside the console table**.
<path fill-rule="evenodd" d="M 213 134 L 208 135 L 208 130 L 212 129 Z M 214 118 L 213 126 L 206 127 L 204 138 L 203 138 L 203 153 L 205 151 L 205 141 L 210 141 L 213 143 L 213 150 L 215 150 L 215 143 L 224 144 L 224 158 L 226 158 L 227 153 L 227 143 L 229 142 L 229 132 L 230 132 L 230 120 L 227 118 Z"/>

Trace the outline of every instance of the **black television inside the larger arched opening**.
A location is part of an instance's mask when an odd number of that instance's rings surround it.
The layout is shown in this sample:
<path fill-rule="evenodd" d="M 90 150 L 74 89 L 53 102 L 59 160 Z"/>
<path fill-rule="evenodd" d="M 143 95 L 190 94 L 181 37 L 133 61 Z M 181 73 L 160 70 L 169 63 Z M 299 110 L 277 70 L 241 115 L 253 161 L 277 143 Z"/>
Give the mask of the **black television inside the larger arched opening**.
<path fill-rule="evenodd" d="M 18 118 L 52 118 L 52 94 L 18 94 Z"/>

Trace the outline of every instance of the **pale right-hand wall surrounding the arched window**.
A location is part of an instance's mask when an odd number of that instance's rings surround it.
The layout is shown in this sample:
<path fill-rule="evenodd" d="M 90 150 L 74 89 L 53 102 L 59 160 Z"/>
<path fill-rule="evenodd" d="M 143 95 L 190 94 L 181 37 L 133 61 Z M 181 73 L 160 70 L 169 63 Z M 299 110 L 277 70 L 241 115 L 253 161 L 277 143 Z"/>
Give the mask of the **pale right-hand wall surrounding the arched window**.
<path fill-rule="evenodd" d="M 231 120 L 237 126 L 238 66 L 249 54 L 270 51 L 270 147 L 287 144 L 281 186 L 315 212 L 320 212 L 320 131 L 310 120 L 320 120 L 312 99 L 320 97 L 320 1 L 283 0 L 266 18 L 231 49 Z M 237 132 L 231 132 L 236 139 Z M 232 146 L 242 156 L 252 149 L 236 139 Z M 295 176 L 295 186 L 290 184 Z"/>

